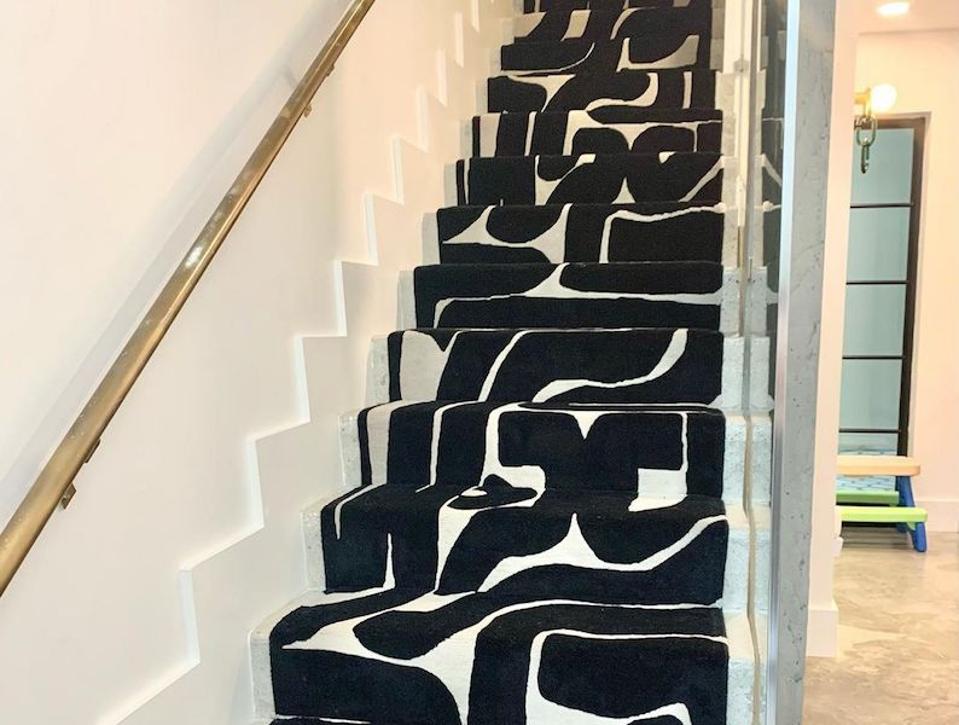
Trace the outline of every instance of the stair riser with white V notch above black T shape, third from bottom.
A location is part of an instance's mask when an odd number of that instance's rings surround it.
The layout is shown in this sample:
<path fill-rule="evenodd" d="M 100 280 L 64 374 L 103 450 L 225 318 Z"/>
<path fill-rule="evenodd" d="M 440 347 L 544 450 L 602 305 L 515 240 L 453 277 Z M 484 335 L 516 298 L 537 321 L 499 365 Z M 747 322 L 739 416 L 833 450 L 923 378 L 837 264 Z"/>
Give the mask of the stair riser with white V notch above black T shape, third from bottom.
<path fill-rule="evenodd" d="M 551 457 L 565 460 L 570 451 L 578 451 L 576 465 L 597 472 L 597 477 L 602 472 L 605 480 L 595 485 L 619 481 L 619 486 L 644 497 L 699 494 L 730 504 L 742 502 L 746 424 L 741 416 L 727 414 L 723 422 L 716 413 L 695 410 L 618 408 L 602 406 L 607 420 L 593 423 L 584 437 L 577 421 L 589 425 L 593 416 L 566 412 L 563 406 L 442 402 L 377 406 L 365 416 L 344 416 L 341 421 L 344 483 L 348 490 L 386 482 L 414 489 L 475 486 L 487 475 L 496 475 L 517 486 L 542 486 L 548 485 L 543 482 L 549 477 L 544 467 L 555 468 Z M 491 449 L 488 441 L 498 440 L 497 436 L 504 442 L 498 450 Z M 502 447 L 506 442 L 509 448 Z M 614 460 L 609 450 L 630 451 L 631 456 Z M 640 469 L 645 471 L 642 475 Z M 560 483 L 570 480 L 569 472 L 556 470 L 554 475 Z"/>

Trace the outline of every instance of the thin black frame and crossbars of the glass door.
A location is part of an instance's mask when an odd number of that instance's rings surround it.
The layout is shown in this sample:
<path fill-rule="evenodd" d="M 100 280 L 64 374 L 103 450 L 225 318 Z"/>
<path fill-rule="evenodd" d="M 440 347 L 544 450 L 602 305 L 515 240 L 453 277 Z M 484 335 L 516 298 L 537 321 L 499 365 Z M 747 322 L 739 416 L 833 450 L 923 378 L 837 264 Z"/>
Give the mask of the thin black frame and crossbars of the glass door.
<path fill-rule="evenodd" d="M 898 436 L 897 451 L 899 455 L 909 454 L 909 419 L 912 406 L 912 368 L 913 352 L 915 350 L 916 331 L 916 295 L 919 282 L 919 231 L 920 216 L 922 213 L 922 175 L 924 169 L 923 153 L 926 148 L 926 118 L 924 116 L 908 116 L 895 118 L 880 118 L 879 129 L 910 128 L 913 130 L 912 146 L 912 189 L 908 202 L 884 204 L 851 204 L 852 209 L 905 209 L 909 208 L 909 248 L 906 258 L 905 280 L 863 280 L 846 281 L 851 285 L 905 285 L 906 299 L 903 310 L 903 340 L 902 355 L 843 355 L 846 360 L 901 360 L 899 386 L 899 423 L 894 429 L 888 428 L 842 428 L 840 433 L 888 433 Z"/>

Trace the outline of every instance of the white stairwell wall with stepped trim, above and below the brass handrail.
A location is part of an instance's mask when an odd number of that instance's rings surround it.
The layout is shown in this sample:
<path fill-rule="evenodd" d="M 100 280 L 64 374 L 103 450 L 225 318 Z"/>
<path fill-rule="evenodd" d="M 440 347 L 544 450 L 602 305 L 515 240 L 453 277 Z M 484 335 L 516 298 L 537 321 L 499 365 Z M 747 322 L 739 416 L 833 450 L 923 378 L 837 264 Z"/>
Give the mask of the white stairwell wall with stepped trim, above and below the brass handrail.
<path fill-rule="evenodd" d="M 345 4 L 5 7 L 4 519 Z M 508 4 L 374 6 L 0 600 L 0 721 L 252 717 L 247 634 L 305 584 L 299 512 L 342 486 Z"/>

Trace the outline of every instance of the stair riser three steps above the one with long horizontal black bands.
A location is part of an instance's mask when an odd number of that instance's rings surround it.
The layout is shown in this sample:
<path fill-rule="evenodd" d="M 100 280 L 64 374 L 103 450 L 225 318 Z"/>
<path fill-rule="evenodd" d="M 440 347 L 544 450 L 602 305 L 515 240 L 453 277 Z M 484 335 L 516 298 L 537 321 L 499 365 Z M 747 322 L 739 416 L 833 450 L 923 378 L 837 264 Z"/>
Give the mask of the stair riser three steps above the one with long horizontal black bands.
<path fill-rule="evenodd" d="M 670 119 L 617 120 L 610 113 L 486 114 L 473 119 L 469 148 L 473 157 L 582 154 L 732 153 L 732 127 L 706 113 L 683 120 L 678 112 Z M 706 116 L 706 118 L 702 118 Z"/>

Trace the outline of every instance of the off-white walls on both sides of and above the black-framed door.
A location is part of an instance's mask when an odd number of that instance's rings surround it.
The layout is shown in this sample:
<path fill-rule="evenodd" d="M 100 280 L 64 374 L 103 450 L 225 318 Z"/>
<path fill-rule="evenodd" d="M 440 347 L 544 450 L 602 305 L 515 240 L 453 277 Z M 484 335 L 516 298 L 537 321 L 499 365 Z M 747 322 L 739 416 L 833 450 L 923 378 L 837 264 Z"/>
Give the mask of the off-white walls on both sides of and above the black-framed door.
<path fill-rule="evenodd" d="M 892 83 L 894 114 L 928 115 L 920 237 L 911 453 L 921 462 L 919 505 L 929 529 L 959 530 L 959 248 L 955 190 L 959 188 L 959 31 L 858 34 L 848 4 L 837 6 L 834 128 L 830 147 L 824 310 L 820 349 L 816 480 L 810 582 L 809 654 L 834 655 L 838 616 L 832 598 L 835 541 L 835 454 L 845 304 L 855 88 Z M 861 8 L 860 8 L 861 9 Z M 870 9 L 871 10 L 871 9 Z M 860 18 L 861 21 L 861 18 Z M 875 19 L 871 18 L 874 23 Z M 931 539 L 935 546 L 935 537 Z"/>

